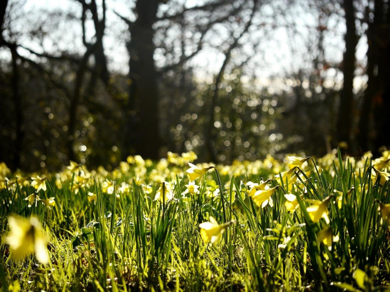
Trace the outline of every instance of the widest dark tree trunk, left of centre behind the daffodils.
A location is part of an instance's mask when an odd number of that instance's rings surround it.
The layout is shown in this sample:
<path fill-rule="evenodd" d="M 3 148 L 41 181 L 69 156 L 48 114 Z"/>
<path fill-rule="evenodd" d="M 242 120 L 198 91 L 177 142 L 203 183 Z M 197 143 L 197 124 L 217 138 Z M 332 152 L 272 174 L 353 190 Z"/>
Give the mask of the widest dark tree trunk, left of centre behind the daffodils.
<path fill-rule="evenodd" d="M 159 158 L 161 146 L 159 125 L 159 93 L 154 66 L 153 23 L 159 1 L 137 1 L 138 18 L 129 27 L 128 44 L 129 102 L 125 110 L 126 125 L 122 158 L 139 154 L 144 158 Z"/>

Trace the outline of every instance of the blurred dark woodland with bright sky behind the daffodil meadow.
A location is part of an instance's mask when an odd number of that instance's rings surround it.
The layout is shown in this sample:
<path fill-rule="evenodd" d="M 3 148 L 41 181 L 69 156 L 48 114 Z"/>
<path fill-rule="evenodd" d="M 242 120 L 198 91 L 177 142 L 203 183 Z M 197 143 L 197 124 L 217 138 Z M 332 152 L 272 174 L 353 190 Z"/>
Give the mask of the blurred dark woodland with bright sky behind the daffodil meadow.
<path fill-rule="evenodd" d="M 390 145 L 388 0 L 2 0 L 0 161 Z"/>

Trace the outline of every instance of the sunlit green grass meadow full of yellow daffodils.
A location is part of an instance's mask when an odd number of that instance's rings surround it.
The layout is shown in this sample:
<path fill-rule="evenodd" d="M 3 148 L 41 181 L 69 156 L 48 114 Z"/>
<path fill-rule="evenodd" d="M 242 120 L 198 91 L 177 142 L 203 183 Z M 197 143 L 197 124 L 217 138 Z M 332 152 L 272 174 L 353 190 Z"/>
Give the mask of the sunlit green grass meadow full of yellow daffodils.
<path fill-rule="evenodd" d="M 390 289 L 390 151 L 196 159 L 40 174 L 0 164 L 1 288 Z"/>

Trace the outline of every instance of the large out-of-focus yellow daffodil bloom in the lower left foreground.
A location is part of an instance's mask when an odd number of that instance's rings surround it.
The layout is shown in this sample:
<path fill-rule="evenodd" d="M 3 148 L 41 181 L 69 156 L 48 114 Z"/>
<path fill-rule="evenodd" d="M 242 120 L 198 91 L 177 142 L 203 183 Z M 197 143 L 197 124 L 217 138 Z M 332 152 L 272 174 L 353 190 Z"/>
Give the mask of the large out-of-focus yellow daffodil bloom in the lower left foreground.
<path fill-rule="evenodd" d="M 5 241 L 11 246 L 13 259 L 23 259 L 35 252 L 35 257 L 42 264 L 49 261 L 47 240 L 37 218 L 9 216 L 8 224 L 11 231 Z"/>

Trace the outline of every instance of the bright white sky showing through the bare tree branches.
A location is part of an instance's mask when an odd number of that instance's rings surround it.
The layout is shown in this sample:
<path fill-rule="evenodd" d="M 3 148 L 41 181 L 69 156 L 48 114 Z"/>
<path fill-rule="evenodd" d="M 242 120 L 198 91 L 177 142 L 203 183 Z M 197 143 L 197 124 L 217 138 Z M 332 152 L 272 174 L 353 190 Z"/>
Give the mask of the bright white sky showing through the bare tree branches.
<path fill-rule="evenodd" d="M 16 1 L 16 0 L 14 0 Z M 186 7 L 192 7 L 194 5 L 200 5 L 203 1 L 200 0 L 183 0 Z M 99 1 L 98 1 L 99 3 Z M 305 2 L 303 2 L 305 3 Z M 105 53 L 108 56 L 109 68 L 117 70 L 124 74 L 128 71 L 128 53 L 124 40 L 128 39 L 129 34 L 126 30 L 127 26 L 119 17 L 114 13 L 118 12 L 121 15 L 128 17 L 130 20 L 135 20 L 135 15 L 132 13 L 132 7 L 134 2 L 131 0 L 107 0 L 107 28 L 104 38 Z M 161 5 L 161 11 L 166 9 L 166 5 Z M 275 13 L 271 7 L 267 5 L 262 8 L 263 19 L 262 22 L 266 25 L 273 25 L 278 23 L 278 26 L 273 27 L 271 30 L 259 30 L 253 28 L 250 30 L 250 34 L 261 40 L 257 49 L 254 51 L 253 46 L 249 46 L 249 40 L 243 38 L 241 49 L 248 55 L 252 55 L 251 62 L 249 63 L 248 71 L 254 73 L 256 78 L 267 82 L 271 76 L 282 77 L 286 72 L 296 72 L 305 64 L 310 65 L 312 63 L 311 56 L 305 54 L 304 50 L 307 46 L 310 46 L 312 42 L 315 42 L 312 29 L 317 25 L 317 16 L 309 14 L 306 11 L 306 7 L 295 5 L 289 9 L 289 14 L 285 16 L 278 16 L 275 18 Z M 44 27 L 47 23 L 53 25 L 55 19 L 48 18 L 42 10 L 45 11 L 69 11 L 74 12 L 75 15 L 80 16 L 81 9 L 80 4 L 74 0 L 25 0 L 22 10 L 26 12 L 27 17 L 16 19 L 15 26 L 21 31 L 30 29 L 27 24 L 39 23 Z M 160 13 L 161 13 L 160 11 Z M 39 18 L 37 16 L 39 15 Z M 289 29 L 289 23 L 292 19 L 296 23 L 297 31 L 299 34 L 291 37 L 292 32 Z M 290 22 L 289 22 L 290 21 Z M 328 21 L 328 31 L 325 33 L 324 45 L 325 45 L 325 59 L 330 63 L 340 63 L 342 61 L 342 51 L 344 48 L 344 32 L 345 24 L 342 18 L 334 17 Z M 69 49 L 73 51 L 80 51 L 79 48 L 83 48 L 81 39 L 81 26 L 80 20 L 74 19 L 66 21 L 59 21 L 54 23 L 56 32 L 52 33 L 52 39 L 60 41 L 50 41 L 45 38 L 43 43 L 32 41 L 29 38 L 25 38 L 20 41 L 24 46 L 34 49 L 35 51 L 42 52 L 42 47 L 45 51 L 55 53 L 57 49 Z M 48 28 L 50 26 L 47 26 Z M 94 34 L 94 28 L 92 23 L 87 25 L 87 35 L 92 38 Z M 222 30 L 220 32 L 223 35 Z M 213 42 L 211 39 L 210 42 Z M 223 45 L 223 44 L 222 44 Z M 356 58 L 358 62 L 364 62 L 365 53 L 367 51 L 367 40 L 361 38 L 356 50 Z M 260 52 L 260 53 L 259 53 Z M 27 51 L 21 51 L 20 53 L 29 55 Z M 237 55 L 237 53 L 236 53 Z M 7 58 L 7 53 L 0 53 L 0 57 Z M 232 63 L 240 63 L 239 54 L 236 58 L 233 58 Z M 305 59 L 307 58 L 307 59 Z M 155 53 L 156 65 L 163 64 L 165 62 L 164 56 L 156 50 Z M 199 80 L 210 80 L 213 74 L 218 72 L 224 55 L 220 51 L 219 47 L 205 47 L 198 55 L 190 60 L 189 65 L 197 68 L 195 74 Z M 249 68 L 250 67 L 250 68 Z M 333 72 L 335 73 L 335 72 Z M 329 72 L 330 78 L 339 78 L 332 76 L 332 71 Z M 364 82 L 364 78 L 356 77 L 355 85 L 360 86 Z"/>

